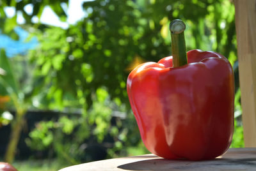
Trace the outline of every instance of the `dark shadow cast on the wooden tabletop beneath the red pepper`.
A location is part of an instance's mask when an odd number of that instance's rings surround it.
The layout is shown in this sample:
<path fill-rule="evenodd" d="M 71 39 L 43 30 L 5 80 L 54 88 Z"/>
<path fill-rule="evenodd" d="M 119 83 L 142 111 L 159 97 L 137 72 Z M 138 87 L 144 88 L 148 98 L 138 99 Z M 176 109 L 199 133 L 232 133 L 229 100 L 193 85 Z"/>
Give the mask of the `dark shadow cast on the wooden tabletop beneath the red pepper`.
<path fill-rule="evenodd" d="M 124 170 L 256 170 L 256 158 L 216 158 L 207 161 L 152 159 L 120 165 Z"/>

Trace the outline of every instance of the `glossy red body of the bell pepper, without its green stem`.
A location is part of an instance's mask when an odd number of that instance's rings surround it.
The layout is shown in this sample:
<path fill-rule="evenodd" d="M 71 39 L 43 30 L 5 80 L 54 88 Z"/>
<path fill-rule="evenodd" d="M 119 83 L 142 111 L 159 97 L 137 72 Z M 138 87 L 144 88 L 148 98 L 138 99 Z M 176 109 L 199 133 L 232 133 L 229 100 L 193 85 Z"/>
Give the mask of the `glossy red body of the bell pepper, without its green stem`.
<path fill-rule="evenodd" d="M 166 159 L 209 160 L 227 151 L 234 131 L 232 66 L 216 52 L 190 50 L 137 66 L 127 93 L 147 149 Z"/>

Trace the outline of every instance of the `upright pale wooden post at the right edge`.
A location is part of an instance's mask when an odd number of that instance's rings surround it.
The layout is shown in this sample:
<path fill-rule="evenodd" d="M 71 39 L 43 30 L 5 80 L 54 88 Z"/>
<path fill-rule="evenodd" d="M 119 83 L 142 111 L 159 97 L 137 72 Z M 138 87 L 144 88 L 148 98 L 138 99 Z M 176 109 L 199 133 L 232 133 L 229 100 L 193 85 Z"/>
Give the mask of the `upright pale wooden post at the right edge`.
<path fill-rule="evenodd" d="M 256 147 L 256 0 L 235 0 L 245 147 Z"/>

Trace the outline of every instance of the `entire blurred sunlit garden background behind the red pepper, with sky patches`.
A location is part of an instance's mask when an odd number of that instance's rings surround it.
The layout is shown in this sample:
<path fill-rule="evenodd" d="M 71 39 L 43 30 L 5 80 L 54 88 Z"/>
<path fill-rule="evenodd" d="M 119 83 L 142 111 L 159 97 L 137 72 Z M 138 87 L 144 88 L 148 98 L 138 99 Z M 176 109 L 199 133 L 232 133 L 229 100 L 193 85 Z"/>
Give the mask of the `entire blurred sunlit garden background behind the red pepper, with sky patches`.
<path fill-rule="evenodd" d="M 172 54 L 173 19 L 186 22 L 187 50 L 232 64 L 231 147 L 244 147 L 234 14 L 230 0 L 0 0 L 0 160 L 58 170 L 148 153 L 126 80 L 138 64 Z"/>

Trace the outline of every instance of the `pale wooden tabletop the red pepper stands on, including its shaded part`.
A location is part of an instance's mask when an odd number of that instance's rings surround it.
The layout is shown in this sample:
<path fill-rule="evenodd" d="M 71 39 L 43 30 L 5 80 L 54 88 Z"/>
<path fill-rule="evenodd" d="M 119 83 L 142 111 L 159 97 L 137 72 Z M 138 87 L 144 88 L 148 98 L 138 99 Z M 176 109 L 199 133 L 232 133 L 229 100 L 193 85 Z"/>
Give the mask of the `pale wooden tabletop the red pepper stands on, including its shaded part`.
<path fill-rule="evenodd" d="M 228 149 L 226 154 L 214 160 L 188 161 L 165 160 L 154 154 L 93 161 L 63 168 L 60 171 L 82 170 L 254 170 L 256 148 Z"/>

